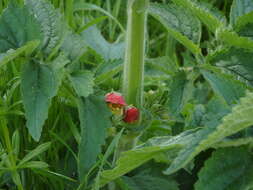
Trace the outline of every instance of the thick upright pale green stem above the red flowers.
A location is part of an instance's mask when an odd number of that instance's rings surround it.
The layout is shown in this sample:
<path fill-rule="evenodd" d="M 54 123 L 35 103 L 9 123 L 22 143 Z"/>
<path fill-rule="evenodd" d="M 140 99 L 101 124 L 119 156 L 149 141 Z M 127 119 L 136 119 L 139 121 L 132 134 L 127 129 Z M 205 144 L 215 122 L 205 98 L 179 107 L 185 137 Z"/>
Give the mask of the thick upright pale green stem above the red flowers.
<path fill-rule="evenodd" d="M 149 0 L 128 1 L 123 94 L 128 104 L 142 107 L 144 51 Z"/>

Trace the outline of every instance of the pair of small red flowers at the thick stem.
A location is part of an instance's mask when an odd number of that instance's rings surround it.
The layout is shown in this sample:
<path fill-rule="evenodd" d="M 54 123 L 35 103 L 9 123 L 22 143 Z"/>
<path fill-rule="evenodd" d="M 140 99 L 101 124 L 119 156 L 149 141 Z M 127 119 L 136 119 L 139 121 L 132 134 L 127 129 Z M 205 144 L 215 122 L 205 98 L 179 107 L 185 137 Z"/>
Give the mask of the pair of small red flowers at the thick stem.
<path fill-rule="evenodd" d="M 140 113 L 134 106 L 128 106 L 122 94 L 111 92 L 105 95 L 105 101 L 113 114 L 122 115 L 126 123 L 138 121 Z"/>

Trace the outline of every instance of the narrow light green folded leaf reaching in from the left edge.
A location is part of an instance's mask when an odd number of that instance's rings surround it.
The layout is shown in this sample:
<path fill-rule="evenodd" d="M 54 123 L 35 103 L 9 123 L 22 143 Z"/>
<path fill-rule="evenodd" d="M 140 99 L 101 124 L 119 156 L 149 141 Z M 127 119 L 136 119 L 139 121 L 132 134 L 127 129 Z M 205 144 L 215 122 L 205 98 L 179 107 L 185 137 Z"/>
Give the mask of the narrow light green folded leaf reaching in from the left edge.
<path fill-rule="evenodd" d="M 18 49 L 10 49 L 6 53 L 0 53 L 0 67 L 23 53 L 32 52 L 39 45 L 39 43 L 39 41 L 30 41 Z"/>

